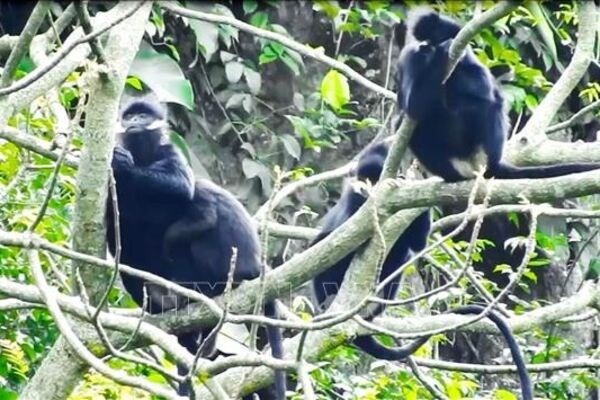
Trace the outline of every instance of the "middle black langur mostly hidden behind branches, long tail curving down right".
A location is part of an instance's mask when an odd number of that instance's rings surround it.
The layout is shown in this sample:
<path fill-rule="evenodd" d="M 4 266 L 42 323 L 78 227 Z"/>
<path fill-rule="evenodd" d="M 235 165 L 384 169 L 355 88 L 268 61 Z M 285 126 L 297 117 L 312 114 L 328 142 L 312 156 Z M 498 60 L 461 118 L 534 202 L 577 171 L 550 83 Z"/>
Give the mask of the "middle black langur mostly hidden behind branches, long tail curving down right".
<path fill-rule="evenodd" d="M 358 161 L 356 170 L 357 179 L 362 181 L 369 180 L 371 183 L 376 183 L 383 170 L 383 164 L 387 153 L 388 147 L 385 143 L 374 144 L 367 148 Z M 364 194 L 355 191 L 351 185 L 348 185 L 338 203 L 325 215 L 323 228 L 313 241 L 313 244 L 327 237 L 335 229 L 346 222 L 356 211 L 358 211 L 365 201 L 366 198 Z M 380 281 L 390 276 L 398 267 L 408 261 L 411 252 L 419 252 L 425 247 L 430 226 L 429 211 L 426 211 L 419 215 L 406 228 L 394 243 L 383 262 L 379 278 Z M 337 294 L 354 254 L 355 252 L 348 254 L 314 278 L 313 288 L 319 307 L 322 307 L 326 303 L 329 296 L 335 296 Z M 386 285 L 383 289 L 383 293 L 380 295 L 388 300 L 395 298 L 398 291 L 399 279 L 400 277 L 398 276 Z M 382 313 L 383 310 L 383 305 L 377 305 L 370 311 L 369 318 Z M 484 308 L 477 305 L 468 305 L 450 310 L 450 312 L 456 314 L 479 314 L 482 311 L 484 311 Z M 532 400 L 533 391 L 525 367 L 525 361 L 510 327 L 506 321 L 494 311 L 489 312 L 487 318 L 498 327 L 507 341 L 514 363 L 517 366 L 523 399 Z M 413 354 L 428 339 L 428 337 L 422 337 L 403 347 L 389 348 L 377 342 L 373 336 L 364 335 L 355 338 L 354 344 L 375 358 L 401 360 Z"/>

